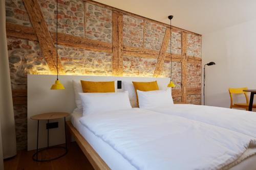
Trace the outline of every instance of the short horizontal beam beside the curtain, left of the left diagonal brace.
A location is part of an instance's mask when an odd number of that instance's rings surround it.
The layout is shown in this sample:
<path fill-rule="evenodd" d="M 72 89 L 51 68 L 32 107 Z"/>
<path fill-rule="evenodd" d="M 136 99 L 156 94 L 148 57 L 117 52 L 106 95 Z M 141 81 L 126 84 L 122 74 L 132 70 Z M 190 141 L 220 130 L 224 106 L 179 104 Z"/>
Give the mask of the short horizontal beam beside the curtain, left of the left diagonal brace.
<path fill-rule="evenodd" d="M 17 25 L 10 22 L 6 22 L 6 34 L 7 37 L 22 38 L 30 41 L 38 40 L 33 27 Z"/>

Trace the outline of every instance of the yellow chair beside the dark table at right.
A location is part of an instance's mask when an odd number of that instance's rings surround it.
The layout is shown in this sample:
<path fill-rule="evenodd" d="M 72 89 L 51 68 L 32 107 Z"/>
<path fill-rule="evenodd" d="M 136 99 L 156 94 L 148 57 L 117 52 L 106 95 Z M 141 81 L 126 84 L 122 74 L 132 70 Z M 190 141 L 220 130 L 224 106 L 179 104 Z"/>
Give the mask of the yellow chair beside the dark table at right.
<path fill-rule="evenodd" d="M 230 95 L 230 108 L 244 108 L 248 110 L 249 108 L 249 99 L 243 90 L 247 90 L 247 87 L 242 87 L 242 88 L 229 88 L 229 95 Z M 233 103 L 233 94 L 244 94 L 246 103 Z M 252 105 L 252 108 L 256 108 L 256 104 Z"/>

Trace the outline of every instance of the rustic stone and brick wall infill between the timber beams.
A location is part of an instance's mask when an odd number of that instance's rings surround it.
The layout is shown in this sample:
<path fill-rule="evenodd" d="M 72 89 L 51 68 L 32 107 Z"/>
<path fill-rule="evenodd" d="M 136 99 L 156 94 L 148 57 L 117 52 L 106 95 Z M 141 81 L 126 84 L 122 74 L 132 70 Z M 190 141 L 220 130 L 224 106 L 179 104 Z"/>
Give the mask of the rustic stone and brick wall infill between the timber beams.
<path fill-rule="evenodd" d="M 56 1 L 38 0 L 48 29 L 56 31 Z M 112 43 L 112 10 L 82 0 L 58 0 L 58 32 L 72 36 Z M 6 0 L 6 21 L 32 27 L 22 0 Z M 166 26 L 146 18 L 123 13 L 123 45 L 159 51 Z M 181 32 L 172 29 L 172 53 L 181 55 Z M 187 55 L 201 57 L 201 36 L 187 33 Z M 166 50 L 170 53 L 170 44 Z M 27 146 L 27 74 L 52 74 L 37 41 L 8 37 L 8 55 L 14 99 L 17 148 Z M 112 53 L 96 52 L 58 45 L 58 55 L 67 75 L 112 75 Z M 172 78 L 176 87 L 182 88 L 181 61 L 165 60 L 159 77 Z M 123 76 L 153 77 L 156 58 L 123 56 Z M 201 64 L 187 64 L 187 88 L 201 87 Z M 21 94 L 18 94 L 22 91 Z M 17 95 L 17 96 L 16 96 Z M 19 101 L 15 102 L 18 98 Z M 20 101 L 20 99 L 24 99 Z M 188 103 L 200 104 L 201 94 L 186 96 Z M 181 102 L 180 96 L 174 101 Z"/>

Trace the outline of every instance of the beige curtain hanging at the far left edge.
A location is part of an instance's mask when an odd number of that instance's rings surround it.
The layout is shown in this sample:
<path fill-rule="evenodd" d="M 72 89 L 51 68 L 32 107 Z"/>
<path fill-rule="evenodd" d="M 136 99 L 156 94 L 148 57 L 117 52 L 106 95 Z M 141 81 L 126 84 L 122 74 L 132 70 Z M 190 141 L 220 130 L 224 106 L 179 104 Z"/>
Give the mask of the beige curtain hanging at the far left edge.
<path fill-rule="evenodd" d="M 0 23 L 0 147 L 3 146 L 4 158 L 9 158 L 16 155 L 16 135 L 5 30 L 5 0 L 0 0 Z"/>

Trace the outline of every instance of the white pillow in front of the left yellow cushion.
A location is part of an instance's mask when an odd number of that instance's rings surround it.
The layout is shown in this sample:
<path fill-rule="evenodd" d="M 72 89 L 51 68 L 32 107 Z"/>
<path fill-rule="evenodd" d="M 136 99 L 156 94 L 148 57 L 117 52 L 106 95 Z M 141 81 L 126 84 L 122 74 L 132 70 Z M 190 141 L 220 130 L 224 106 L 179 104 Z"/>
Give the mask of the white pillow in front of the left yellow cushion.
<path fill-rule="evenodd" d="M 83 116 L 93 113 L 131 109 L 128 91 L 109 93 L 79 93 Z"/>

